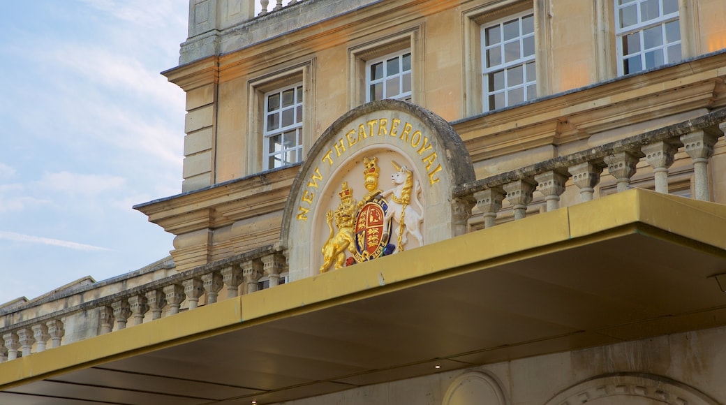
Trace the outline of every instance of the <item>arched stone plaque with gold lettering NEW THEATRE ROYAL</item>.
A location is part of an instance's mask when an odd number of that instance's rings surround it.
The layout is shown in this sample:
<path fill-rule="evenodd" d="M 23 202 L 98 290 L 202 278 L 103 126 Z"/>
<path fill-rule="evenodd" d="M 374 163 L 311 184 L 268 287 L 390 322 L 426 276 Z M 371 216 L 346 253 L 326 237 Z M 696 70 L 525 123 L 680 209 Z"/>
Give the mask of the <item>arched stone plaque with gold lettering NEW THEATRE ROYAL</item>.
<path fill-rule="evenodd" d="M 293 182 L 282 220 L 290 279 L 462 233 L 452 188 L 473 180 L 460 136 L 431 111 L 397 100 L 349 111 Z"/>

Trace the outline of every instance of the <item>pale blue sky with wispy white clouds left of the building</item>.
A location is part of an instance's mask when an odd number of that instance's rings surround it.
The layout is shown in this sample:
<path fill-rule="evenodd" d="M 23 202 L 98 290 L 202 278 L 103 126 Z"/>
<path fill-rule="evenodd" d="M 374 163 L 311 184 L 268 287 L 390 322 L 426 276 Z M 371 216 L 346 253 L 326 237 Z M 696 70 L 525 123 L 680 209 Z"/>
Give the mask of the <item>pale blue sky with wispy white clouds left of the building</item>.
<path fill-rule="evenodd" d="M 132 205 L 181 192 L 187 0 L 24 0 L 0 28 L 0 303 L 166 257 Z"/>

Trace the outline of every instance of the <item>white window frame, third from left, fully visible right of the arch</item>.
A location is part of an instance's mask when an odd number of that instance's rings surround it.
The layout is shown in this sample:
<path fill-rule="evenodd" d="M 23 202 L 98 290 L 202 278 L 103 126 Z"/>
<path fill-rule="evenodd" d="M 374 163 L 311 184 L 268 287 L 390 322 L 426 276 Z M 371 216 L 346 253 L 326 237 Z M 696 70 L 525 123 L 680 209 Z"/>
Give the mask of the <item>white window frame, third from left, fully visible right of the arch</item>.
<path fill-rule="evenodd" d="M 526 17 L 531 18 L 532 30 L 530 33 L 523 34 L 522 26 L 523 19 Z M 519 35 L 505 40 L 503 36 L 503 28 L 505 23 L 510 23 L 514 20 L 518 21 Z M 486 33 L 487 30 L 499 26 L 500 40 L 497 43 L 487 45 Z M 529 9 L 516 14 L 507 15 L 499 20 L 494 20 L 486 25 L 481 25 L 481 69 L 482 69 L 482 105 L 484 106 L 484 112 L 498 110 L 502 107 L 510 107 L 512 105 L 520 104 L 537 97 L 537 46 L 534 44 L 535 30 L 534 30 L 534 10 Z M 530 55 L 524 55 L 524 44 L 525 41 L 531 42 L 532 52 Z M 517 43 L 519 45 L 520 57 L 506 62 L 505 58 L 505 46 Z M 499 49 L 501 62 L 497 65 L 489 66 L 487 63 L 487 54 L 489 51 Z M 530 65 L 531 64 L 531 65 Z M 528 67 L 531 66 L 533 69 L 528 72 Z M 522 81 L 521 83 L 510 85 L 508 74 L 510 71 L 521 67 L 522 70 Z M 489 78 L 490 75 L 495 73 L 502 73 L 504 87 L 502 89 L 492 90 L 490 89 Z M 510 102 L 510 94 L 513 91 L 522 89 L 522 98 L 516 102 Z M 501 94 L 504 98 L 504 105 L 492 106 L 490 105 L 490 97 L 497 97 Z"/>

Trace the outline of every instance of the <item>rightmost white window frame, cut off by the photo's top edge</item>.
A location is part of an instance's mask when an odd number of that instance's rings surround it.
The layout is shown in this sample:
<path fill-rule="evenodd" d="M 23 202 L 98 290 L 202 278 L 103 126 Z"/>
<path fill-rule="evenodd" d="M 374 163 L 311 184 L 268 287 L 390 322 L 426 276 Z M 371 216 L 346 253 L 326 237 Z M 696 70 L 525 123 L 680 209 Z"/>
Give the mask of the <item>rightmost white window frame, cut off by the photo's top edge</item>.
<path fill-rule="evenodd" d="M 674 63 L 682 60 L 684 51 L 682 49 L 682 30 L 680 28 L 680 25 L 682 24 L 680 20 L 680 7 L 678 5 L 677 0 L 627 0 L 627 2 L 624 2 L 624 4 L 619 4 L 622 0 L 612 0 L 613 1 L 613 10 L 614 10 L 614 17 L 615 17 L 615 36 L 616 36 L 616 60 L 617 60 L 617 74 L 619 76 L 626 75 L 630 73 L 637 73 L 642 72 L 643 70 L 649 70 L 653 69 L 662 65 L 667 65 L 669 63 Z M 658 1 L 658 17 L 651 18 L 649 20 L 643 20 L 642 15 L 642 5 L 646 1 Z M 664 15 L 664 1 L 672 1 L 676 5 L 676 11 L 670 12 L 669 14 Z M 627 27 L 621 28 L 621 10 L 627 9 L 629 7 L 635 7 L 636 9 L 636 21 L 632 25 L 628 25 Z M 678 23 L 678 39 L 677 41 L 671 41 L 668 42 L 668 38 L 666 37 L 666 24 L 671 24 L 677 22 Z M 661 35 L 661 44 L 650 46 L 649 48 L 645 48 L 645 33 L 648 30 L 656 30 L 658 28 L 660 35 Z M 637 52 L 633 52 L 631 54 L 624 54 L 624 47 L 623 42 L 624 38 L 627 36 L 632 36 L 637 34 L 637 38 L 640 43 L 640 49 Z M 677 57 L 674 57 L 674 55 L 671 55 L 671 52 L 675 52 L 675 49 L 678 49 Z M 648 66 L 648 54 L 653 54 L 653 52 L 661 52 L 662 53 L 662 62 L 658 64 L 653 64 L 651 66 Z M 626 60 L 632 60 L 635 58 L 638 58 L 640 60 L 640 70 L 633 70 L 633 71 L 625 71 L 625 62 Z"/>

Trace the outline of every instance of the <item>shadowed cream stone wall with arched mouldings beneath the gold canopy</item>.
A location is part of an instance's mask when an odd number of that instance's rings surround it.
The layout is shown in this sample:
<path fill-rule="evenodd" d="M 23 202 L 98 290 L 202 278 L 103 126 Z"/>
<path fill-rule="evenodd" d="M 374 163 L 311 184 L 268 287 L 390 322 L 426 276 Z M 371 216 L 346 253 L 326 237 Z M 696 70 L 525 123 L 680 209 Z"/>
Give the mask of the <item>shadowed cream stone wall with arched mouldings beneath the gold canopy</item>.
<path fill-rule="evenodd" d="M 384 382 L 285 405 L 726 402 L 726 327 Z"/>

